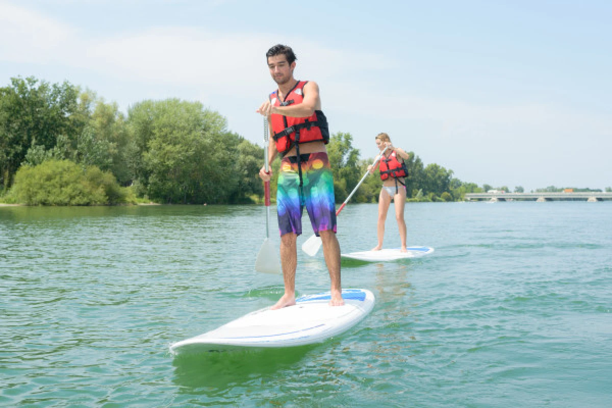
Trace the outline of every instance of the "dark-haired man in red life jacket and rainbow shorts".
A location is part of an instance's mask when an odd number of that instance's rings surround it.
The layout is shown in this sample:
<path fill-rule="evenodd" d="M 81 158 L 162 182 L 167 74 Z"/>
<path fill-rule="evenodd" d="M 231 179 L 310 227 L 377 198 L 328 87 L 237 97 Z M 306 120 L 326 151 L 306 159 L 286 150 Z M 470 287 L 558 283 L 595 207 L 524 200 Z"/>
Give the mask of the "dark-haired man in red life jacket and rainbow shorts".
<path fill-rule="evenodd" d="M 302 234 L 302 209 L 323 242 L 323 254 L 331 280 L 331 306 L 344 304 L 340 286 L 340 245 L 336 239 L 334 180 L 325 145 L 329 141 L 327 119 L 321 111 L 319 86 L 293 77 L 296 56 L 285 45 L 275 45 L 266 53 L 272 79 L 278 84 L 257 111 L 266 116 L 271 128 L 269 163 L 277 154 L 283 159 L 278 175 L 277 210 L 280 229 L 280 263 L 285 294 L 272 306 L 280 309 L 295 305 L 297 236 Z M 264 167 L 259 176 L 267 181 Z"/>

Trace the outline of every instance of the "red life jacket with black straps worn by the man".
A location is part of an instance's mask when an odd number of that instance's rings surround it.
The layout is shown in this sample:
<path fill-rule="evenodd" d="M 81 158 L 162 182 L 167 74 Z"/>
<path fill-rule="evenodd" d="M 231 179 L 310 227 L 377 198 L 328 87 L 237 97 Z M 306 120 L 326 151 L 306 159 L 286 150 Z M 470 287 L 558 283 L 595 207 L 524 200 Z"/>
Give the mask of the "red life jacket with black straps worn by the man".
<path fill-rule="evenodd" d="M 272 106 L 289 106 L 302 103 L 304 100 L 304 85 L 308 81 L 297 81 L 296 86 L 281 101 L 278 89 L 270 94 Z M 280 154 L 291 150 L 294 144 L 323 141 L 329 143 L 329 127 L 323 111 L 315 111 L 310 117 L 290 117 L 272 114 L 272 133 L 276 142 L 276 149 Z"/>

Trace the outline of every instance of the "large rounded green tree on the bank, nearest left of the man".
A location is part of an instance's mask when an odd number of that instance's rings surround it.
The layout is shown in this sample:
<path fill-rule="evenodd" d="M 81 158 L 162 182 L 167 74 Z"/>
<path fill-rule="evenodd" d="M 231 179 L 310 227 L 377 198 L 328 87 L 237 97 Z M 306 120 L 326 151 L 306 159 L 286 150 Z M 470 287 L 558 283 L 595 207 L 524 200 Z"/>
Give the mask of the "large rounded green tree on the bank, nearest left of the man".
<path fill-rule="evenodd" d="M 228 132 L 225 118 L 201 103 L 143 101 L 130 109 L 128 125 L 134 152 L 130 168 L 140 193 L 149 198 L 225 203 L 248 193 L 239 192 L 241 185 L 256 189 L 256 158 L 236 164 L 244 138 Z M 245 184 L 250 171 L 252 180 Z"/>

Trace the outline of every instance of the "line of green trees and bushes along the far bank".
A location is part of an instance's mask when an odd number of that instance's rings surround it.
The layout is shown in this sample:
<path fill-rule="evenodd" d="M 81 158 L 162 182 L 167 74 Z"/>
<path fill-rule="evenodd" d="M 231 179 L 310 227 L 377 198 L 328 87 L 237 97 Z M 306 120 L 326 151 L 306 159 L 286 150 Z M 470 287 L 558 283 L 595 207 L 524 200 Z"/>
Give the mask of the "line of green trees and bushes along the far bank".
<path fill-rule="evenodd" d="M 372 158 L 350 133 L 327 147 L 335 195 L 344 201 Z M 263 148 L 228 130 L 199 102 L 143 100 L 122 113 L 90 89 L 34 77 L 0 87 L 0 196 L 23 204 L 136 202 L 245 204 L 261 201 Z M 411 152 L 409 201 L 455 201 L 483 190 Z M 272 168 L 272 194 L 280 160 Z M 381 181 L 367 177 L 356 202 L 375 202 Z"/>

